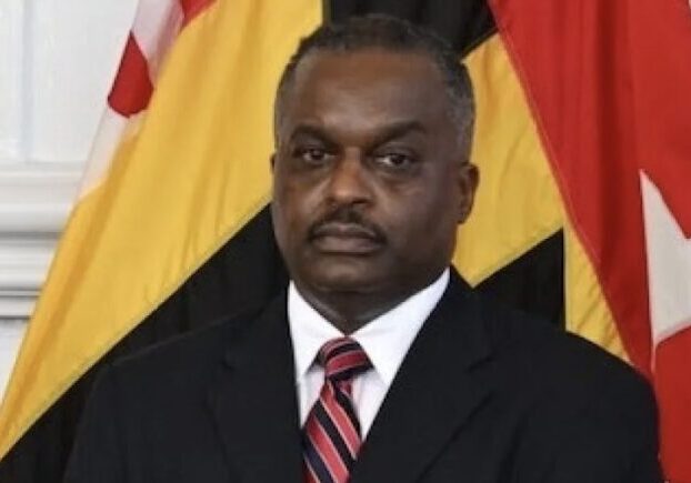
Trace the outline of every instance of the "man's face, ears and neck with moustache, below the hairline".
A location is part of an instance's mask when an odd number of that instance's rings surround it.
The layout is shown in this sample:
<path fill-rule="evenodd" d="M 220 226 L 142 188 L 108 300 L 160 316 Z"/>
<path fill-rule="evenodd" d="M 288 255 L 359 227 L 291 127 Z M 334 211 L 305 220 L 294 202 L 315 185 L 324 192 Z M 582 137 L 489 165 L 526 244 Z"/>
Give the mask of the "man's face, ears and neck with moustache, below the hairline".
<path fill-rule="evenodd" d="M 277 241 L 300 294 L 345 334 L 449 265 L 478 171 L 421 53 L 318 51 L 280 104 Z"/>

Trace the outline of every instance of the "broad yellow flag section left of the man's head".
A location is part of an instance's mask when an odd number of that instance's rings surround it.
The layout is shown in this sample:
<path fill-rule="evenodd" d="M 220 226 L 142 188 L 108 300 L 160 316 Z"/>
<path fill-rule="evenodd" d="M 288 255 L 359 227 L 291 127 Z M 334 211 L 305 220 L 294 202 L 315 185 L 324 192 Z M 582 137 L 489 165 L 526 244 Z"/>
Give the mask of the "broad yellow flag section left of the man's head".
<path fill-rule="evenodd" d="M 71 215 L 0 409 L 0 455 L 269 199 L 272 102 L 318 0 L 218 1 Z"/>

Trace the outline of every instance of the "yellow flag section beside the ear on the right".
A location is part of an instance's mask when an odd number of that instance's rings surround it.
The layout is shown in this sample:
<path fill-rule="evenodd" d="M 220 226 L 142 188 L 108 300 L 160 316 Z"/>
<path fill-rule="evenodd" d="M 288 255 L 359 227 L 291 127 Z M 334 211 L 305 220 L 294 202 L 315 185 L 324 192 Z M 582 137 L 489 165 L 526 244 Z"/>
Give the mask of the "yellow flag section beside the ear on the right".
<path fill-rule="evenodd" d="M 562 224 L 559 192 L 525 95 L 499 36 L 465 59 L 477 104 L 480 187 L 453 262 L 475 285 Z"/>

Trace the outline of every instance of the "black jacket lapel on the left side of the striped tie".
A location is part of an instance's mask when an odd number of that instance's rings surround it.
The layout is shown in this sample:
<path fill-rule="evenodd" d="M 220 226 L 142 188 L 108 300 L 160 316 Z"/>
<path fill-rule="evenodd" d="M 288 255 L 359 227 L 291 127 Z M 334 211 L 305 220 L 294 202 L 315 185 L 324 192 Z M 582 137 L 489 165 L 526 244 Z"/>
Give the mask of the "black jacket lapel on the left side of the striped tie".
<path fill-rule="evenodd" d="M 227 352 L 209 399 L 231 470 L 242 482 L 301 482 L 286 298 L 274 300 L 246 332 Z"/>

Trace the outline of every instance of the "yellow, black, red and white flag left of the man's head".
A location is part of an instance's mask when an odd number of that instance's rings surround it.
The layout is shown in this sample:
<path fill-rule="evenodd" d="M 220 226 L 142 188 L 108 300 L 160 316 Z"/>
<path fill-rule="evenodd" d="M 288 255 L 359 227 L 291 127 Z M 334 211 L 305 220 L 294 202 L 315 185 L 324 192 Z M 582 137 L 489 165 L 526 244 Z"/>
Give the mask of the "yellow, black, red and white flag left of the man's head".
<path fill-rule="evenodd" d="M 256 268 L 243 265 L 278 260 L 267 256 L 270 240 L 254 243 L 251 222 L 269 200 L 273 94 L 299 39 L 320 21 L 313 0 L 139 2 L 81 195 L 0 410 L 0 481 L 61 480 L 104 360 L 273 292 L 280 265 L 250 286 Z M 247 244 L 253 259 L 236 253 Z M 228 272 L 201 269 L 212 280 L 180 290 L 210 258 Z M 208 288 L 216 303 L 198 304 Z M 179 316 L 160 308 L 169 299 Z"/>

